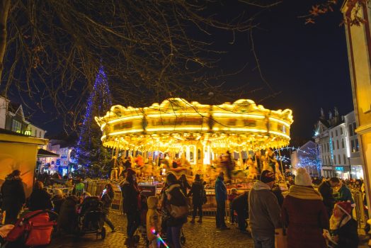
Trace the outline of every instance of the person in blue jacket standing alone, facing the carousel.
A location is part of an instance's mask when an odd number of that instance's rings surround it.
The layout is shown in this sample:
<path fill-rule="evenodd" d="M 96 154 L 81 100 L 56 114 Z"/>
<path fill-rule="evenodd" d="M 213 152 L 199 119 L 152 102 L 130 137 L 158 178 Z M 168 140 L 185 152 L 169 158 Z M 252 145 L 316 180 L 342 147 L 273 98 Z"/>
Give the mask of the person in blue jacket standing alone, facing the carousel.
<path fill-rule="evenodd" d="M 215 199 L 217 200 L 217 215 L 215 220 L 217 228 L 222 230 L 229 230 L 230 228 L 225 225 L 225 201 L 227 201 L 227 188 L 224 185 L 224 173 L 220 172 L 215 181 Z"/>

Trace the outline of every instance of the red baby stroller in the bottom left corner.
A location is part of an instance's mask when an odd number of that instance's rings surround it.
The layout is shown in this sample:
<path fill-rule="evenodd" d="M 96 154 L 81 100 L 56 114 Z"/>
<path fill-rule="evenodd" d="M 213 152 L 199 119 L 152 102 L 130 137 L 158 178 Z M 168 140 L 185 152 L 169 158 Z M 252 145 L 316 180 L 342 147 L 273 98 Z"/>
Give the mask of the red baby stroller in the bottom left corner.
<path fill-rule="evenodd" d="M 1 248 L 23 248 L 50 244 L 52 230 L 57 222 L 50 221 L 50 210 L 36 210 L 18 219 L 3 240 Z"/>

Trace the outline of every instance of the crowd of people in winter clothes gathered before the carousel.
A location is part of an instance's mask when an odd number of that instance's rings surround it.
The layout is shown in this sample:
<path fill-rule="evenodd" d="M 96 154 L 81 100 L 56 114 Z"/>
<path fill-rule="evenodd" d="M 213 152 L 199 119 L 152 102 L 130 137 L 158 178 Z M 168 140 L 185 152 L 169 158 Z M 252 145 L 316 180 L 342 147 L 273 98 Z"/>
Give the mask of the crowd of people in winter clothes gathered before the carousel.
<path fill-rule="evenodd" d="M 122 208 L 127 218 L 127 247 L 135 247 L 135 232 L 141 222 L 147 222 L 149 247 L 160 247 L 157 234 L 166 237 L 171 247 L 181 247 L 181 233 L 191 212 L 190 224 L 202 223 L 202 205 L 207 203 L 205 182 L 200 174 L 195 174 L 190 184 L 185 175 L 166 175 L 164 188 L 159 196 L 143 197 L 137 184 L 136 171 L 130 167 L 123 172 Z M 250 191 L 239 192 L 232 188 L 229 192 L 224 184 L 224 173 L 220 172 L 215 181 L 215 201 L 217 205 L 215 225 L 219 230 L 229 230 L 226 222 L 226 203 L 229 202 L 229 222 L 242 233 L 251 235 L 256 248 L 280 246 L 287 239 L 287 247 L 357 247 L 358 225 L 353 218 L 355 202 L 350 188 L 363 190 L 362 181 L 342 181 L 312 179 L 304 168 L 297 169 L 295 179 L 288 179 L 287 196 L 282 195 L 280 186 L 275 184 L 275 171 L 263 170 Z M 320 184 L 319 184 L 320 181 Z M 86 199 L 92 198 L 84 191 L 81 179 L 66 181 L 73 186 L 72 196 L 67 198 L 59 188 L 53 196 L 42 181 L 35 181 L 33 191 L 25 197 L 21 171 L 15 170 L 6 176 L 1 186 L 1 210 L 6 212 L 5 224 L 16 222 L 23 207 L 30 211 L 50 209 L 59 213 L 57 230 L 71 232 L 71 220 L 81 211 Z M 319 184 L 318 190 L 313 185 Z M 333 189 L 336 188 L 336 191 Z M 110 220 L 110 208 L 115 198 L 112 184 L 106 184 L 98 200 L 103 203 L 102 223 L 112 232 L 116 231 Z M 189 199 L 191 198 L 192 204 Z M 141 209 L 147 205 L 147 216 L 142 218 Z M 190 209 L 193 206 L 193 210 Z M 249 221 L 248 221 L 249 220 Z"/>

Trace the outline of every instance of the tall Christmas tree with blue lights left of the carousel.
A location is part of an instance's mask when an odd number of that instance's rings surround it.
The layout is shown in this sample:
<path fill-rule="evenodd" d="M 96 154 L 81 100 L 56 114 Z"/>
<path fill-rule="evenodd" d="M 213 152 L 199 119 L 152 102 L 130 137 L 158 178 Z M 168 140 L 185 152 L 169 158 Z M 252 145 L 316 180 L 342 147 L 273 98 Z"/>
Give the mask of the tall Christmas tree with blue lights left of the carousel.
<path fill-rule="evenodd" d="M 102 132 L 94 116 L 105 115 L 111 105 L 107 76 L 101 66 L 88 99 L 79 140 L 72 154 L 72 164 L 77 166 L 76 175 L 96 178 L 106 174 L 103 168 L 110 161 L 110 154 L 102 145 Z"/>

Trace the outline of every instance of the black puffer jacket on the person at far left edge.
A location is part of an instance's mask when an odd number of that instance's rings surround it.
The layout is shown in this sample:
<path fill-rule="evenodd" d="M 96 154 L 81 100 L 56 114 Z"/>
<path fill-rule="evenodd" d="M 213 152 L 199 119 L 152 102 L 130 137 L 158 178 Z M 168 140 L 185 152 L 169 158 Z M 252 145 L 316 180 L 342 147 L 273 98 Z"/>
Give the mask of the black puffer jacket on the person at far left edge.
<path fill-rule="evenodd" d="M 1 186 L 1 196 L 3 198 L 2 209 L 21 208 L 25 203 L 25 190 L 22 179 L 7 176 L 4 184 Z"/>

